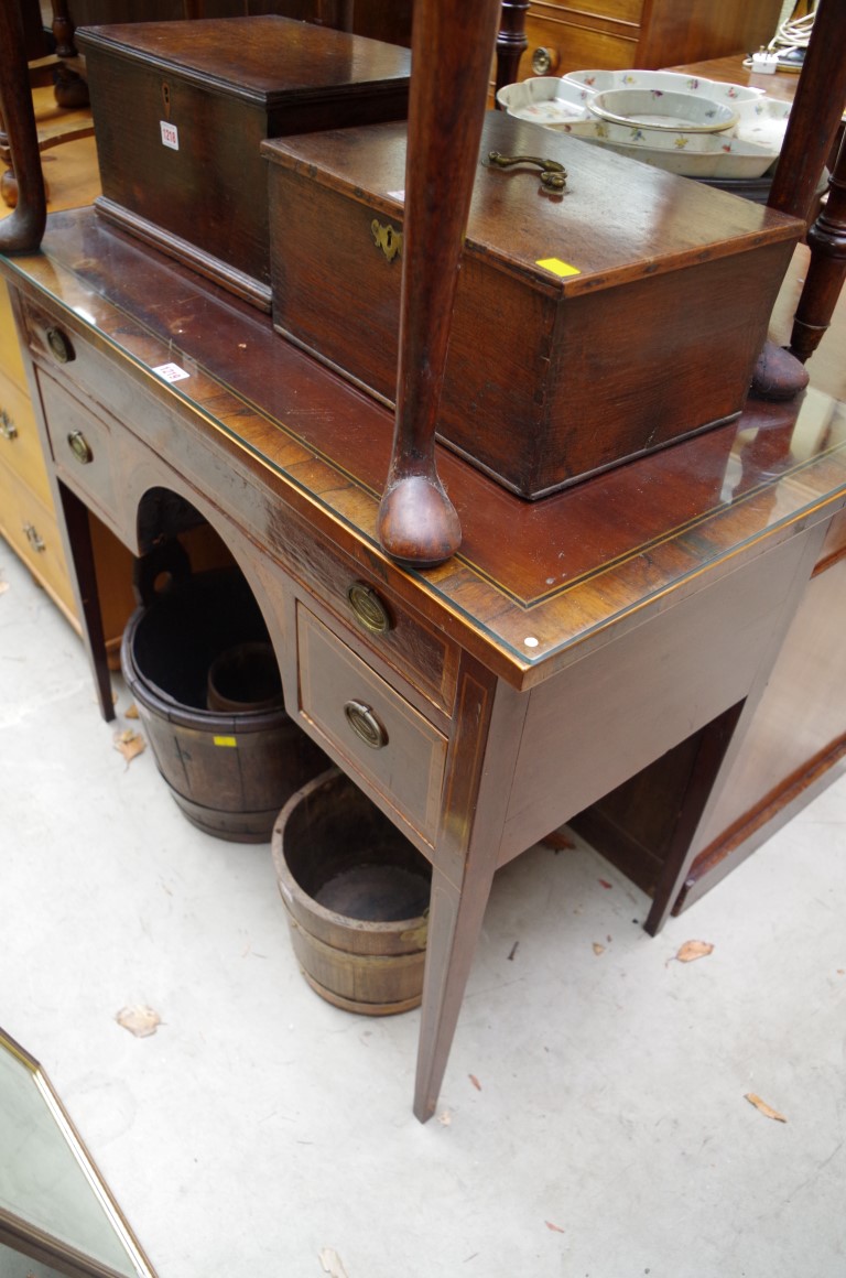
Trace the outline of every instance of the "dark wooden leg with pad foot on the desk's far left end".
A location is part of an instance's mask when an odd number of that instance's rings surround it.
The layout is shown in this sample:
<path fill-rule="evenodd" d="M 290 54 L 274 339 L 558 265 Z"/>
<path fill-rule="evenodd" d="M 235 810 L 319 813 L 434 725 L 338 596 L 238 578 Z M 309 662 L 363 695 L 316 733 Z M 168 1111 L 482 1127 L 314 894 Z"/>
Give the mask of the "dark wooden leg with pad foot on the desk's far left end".
<path fill-rule="evenodd" d="M 28 253 L 41 243 L 47 201 L 23 23 L 15 4 L 0 4 L 0 105 L 18 188 L 14 212 L 0 222 L 0 253 Z"/>

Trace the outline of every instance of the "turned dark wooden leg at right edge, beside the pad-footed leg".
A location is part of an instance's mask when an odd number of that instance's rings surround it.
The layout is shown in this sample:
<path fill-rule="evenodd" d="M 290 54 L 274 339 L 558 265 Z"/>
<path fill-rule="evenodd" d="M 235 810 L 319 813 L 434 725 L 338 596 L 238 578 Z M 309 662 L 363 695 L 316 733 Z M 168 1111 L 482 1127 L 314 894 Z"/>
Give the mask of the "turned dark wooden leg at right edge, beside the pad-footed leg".
<path fill-rule="evenodd" d="M 828 199 L 808 231 L 808 244 L 810 263 L 790 339 L 791 354 L 803 364 L 828 328 L 846 277 L 846 138 L 831 176 Z"/>

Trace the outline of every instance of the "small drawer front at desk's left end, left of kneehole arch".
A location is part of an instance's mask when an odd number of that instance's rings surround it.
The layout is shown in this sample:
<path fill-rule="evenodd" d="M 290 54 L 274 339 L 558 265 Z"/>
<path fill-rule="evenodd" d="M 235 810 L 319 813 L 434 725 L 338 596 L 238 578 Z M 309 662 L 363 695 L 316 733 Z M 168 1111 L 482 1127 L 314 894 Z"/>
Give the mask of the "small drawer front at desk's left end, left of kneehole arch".
<path fill-rule="evenodd" d="M 109 427 L 52 377 L 41 371 L 37 377 L 56 470 L 97 510 L 114 519 L 116 498 Z"/>

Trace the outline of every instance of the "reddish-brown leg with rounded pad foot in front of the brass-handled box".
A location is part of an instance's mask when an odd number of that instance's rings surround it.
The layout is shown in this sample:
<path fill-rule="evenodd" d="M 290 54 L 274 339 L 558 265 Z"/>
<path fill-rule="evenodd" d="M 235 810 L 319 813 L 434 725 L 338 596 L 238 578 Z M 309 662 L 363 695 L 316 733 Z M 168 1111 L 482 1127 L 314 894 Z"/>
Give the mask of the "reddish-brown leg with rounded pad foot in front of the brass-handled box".
<path fill-rule="evenodd" d="M 498 0 L 414 9 L 396 418 L 378 514 L 386 553 L 414 567 L 441 564 L 461 542 L 435 427 L 498 13 Z"/>

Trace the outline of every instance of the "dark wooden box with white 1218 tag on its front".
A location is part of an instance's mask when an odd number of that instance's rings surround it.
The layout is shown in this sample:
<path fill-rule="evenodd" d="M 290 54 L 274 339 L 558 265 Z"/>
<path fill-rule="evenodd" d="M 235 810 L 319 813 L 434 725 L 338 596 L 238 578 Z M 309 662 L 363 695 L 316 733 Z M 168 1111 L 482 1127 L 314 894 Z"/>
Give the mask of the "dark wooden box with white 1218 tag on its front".
<path fill-rule="evenodd" d="M 408 112 L 408 49 L 288 18 L 124 23 L 77 40 L 100 212 L 265 309 L 261 142 Z"/>

